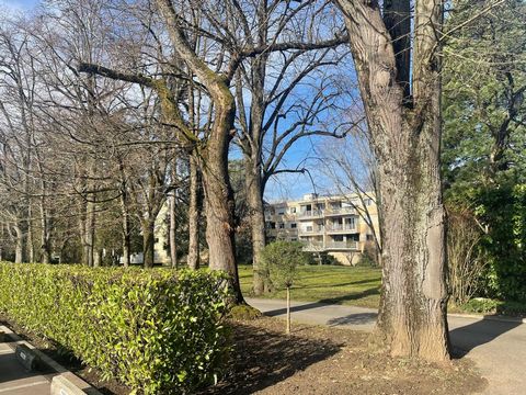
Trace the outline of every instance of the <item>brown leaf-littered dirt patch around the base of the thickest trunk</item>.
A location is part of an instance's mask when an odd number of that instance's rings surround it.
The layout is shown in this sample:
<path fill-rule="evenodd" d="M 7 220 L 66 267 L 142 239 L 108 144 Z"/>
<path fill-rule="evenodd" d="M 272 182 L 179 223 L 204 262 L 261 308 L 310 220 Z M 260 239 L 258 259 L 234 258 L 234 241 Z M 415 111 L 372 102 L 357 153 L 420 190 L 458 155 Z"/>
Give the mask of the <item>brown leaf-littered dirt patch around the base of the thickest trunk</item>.
<path fill-rule="evenodd" d="M 487 382 L 467 359 L 447 366 L 392 359 L 366 332 L 260 318 L 233 324 L 236 349 L 225 380 L 202 394 L 469 394 Z"/>

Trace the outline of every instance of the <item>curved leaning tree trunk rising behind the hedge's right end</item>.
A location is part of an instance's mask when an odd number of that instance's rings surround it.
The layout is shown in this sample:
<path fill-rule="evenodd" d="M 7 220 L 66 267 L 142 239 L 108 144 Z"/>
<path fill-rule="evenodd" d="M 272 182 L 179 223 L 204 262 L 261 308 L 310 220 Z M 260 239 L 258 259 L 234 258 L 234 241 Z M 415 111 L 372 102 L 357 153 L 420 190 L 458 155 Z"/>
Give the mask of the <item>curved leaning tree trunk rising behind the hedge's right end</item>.
<path fill-rule="evenodd" d="M 214 122 L 206 145 L 202 149 L 209 267 L 214 270 L 226 271 L 230 275 L 230 285 L 235 292 L 236 302 L 244 303 L 235 259 L 235 204 L 228 176 L 228 148 L 232 138 L 231 133 L 235 131 L 236 115 L 236 101 L 229 89 L 230 81 L 224 75 L 211 70 L 188 45 L 184 32 L 181 30 L 180 15 L 173 8 L 172 2 L 170 0 L 157 0 L 157 5 L 164 19 L 174 49 L 181 59 L 186 63 L 190 70 L 206 87 L 214 103 Z M 171 105 L 170 112 L 175 115 L 179 110 Z M 173 115 L 171 117 L 175 122 L 181 121 L 181 116 Z M 185 125 L 183 128 L 187 131 Z"/>

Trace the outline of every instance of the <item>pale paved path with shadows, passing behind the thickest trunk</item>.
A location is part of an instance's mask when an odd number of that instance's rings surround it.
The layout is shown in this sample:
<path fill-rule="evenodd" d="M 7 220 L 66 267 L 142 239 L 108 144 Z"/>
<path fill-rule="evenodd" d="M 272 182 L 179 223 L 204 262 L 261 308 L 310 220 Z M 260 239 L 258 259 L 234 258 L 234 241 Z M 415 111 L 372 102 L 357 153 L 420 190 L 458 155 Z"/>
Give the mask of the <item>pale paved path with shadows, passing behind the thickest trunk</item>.
<path fill-rule="evenodd" d="M 268 316 L 283 316 L 285 302 L 247 300 Z M 376 309 L 294 302 L 291 318 L 299 323 L 371 330 Z M 472 359 L 488 379 L 485 395 L 526 394 L 526 324 L 519 320 L 495 320 L 449 316 L 453 346 Z"/>

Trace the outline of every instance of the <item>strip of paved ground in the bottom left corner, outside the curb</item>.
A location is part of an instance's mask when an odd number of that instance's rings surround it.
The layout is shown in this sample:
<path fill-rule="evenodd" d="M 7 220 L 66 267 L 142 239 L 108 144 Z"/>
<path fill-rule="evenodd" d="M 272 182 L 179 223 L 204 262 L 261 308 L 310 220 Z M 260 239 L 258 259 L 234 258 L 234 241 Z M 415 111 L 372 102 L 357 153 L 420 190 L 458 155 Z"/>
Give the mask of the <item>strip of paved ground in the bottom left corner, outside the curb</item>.
<path fill-rule="evenodd" d="M 8 343 L 0 343 L 0 395 L 49 395 L 50 375 L 28 373 Z"/>

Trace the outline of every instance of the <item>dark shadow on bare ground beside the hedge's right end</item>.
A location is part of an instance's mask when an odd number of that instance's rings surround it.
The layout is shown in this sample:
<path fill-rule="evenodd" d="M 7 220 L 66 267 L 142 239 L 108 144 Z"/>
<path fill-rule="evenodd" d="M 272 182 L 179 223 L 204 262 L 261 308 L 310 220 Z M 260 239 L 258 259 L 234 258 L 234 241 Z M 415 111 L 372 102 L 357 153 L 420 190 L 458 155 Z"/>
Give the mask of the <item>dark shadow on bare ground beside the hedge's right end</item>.
<path fill-rule="evenodd" d="M 252 394 L 332 357 L 343 346 L 243 324 L 236 324 L 233 341 L 231 371 L 202 394 Z"/>

